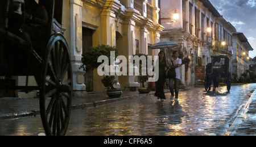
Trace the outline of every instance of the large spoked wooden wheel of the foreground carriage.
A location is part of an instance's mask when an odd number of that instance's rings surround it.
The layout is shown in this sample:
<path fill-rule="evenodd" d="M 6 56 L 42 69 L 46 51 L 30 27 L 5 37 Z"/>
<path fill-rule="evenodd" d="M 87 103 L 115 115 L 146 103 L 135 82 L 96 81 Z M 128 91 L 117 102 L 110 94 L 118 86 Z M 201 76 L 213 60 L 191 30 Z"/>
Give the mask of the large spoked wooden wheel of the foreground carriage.
<path fill-rule="evenodd" d="M 40 115 L 46 135 L 65 135 L 71 115 L 72 68 L 67 42 L 56 33 L 48 42 L 42 69 Z"/>

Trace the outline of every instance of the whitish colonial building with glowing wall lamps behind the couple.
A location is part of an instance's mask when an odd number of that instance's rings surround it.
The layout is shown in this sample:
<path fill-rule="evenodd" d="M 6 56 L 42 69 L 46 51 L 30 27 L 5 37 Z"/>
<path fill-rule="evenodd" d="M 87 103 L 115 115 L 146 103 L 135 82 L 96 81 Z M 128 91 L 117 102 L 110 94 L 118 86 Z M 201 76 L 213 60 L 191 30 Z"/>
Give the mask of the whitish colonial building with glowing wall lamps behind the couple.
<path fill-rule="evenodd" d="M 174 12 L 180 14 L 176 21 L 172 18 Z M 160 41 L 175 41 L 180 47 L 172 50 L 181 51 L 191 60 L 189 65 L 180 68 L 181 82 L 185 85 L 203 83 L 203 79 L 196 76 L 197 69 L 204 70 L 205 65 L 211 62 L 212 52 L 225 53 L 232 58 L 236 49 L 236 43 L 233 43 L 236 28 L 219 14 L 209 0 L 161 0 L 159 23 L 164 26 Z M 167 51 L 169 58 L 172 50 Z M 230 60 L 230 72 L 232 68 Z"/>

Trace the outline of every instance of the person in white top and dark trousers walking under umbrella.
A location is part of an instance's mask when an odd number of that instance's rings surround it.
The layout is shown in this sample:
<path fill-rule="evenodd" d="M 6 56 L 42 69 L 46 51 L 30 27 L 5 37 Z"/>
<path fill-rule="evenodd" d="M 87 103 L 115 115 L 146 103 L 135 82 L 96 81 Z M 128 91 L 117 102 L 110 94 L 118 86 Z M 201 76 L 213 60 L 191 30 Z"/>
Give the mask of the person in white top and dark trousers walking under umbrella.
<path fill-rule="evenodd" d="M 178 101 L 177 99 L 179 96 L 180 65 L 182 62 L 181 62 L 181 59 L 178 58 L 179 53 L 177 51 L 173 51 L 172 54 L 174 58 L 171 59 L 170 68 L 175 68 L 176 77 L 169 79 L 169 89 L 171 91 L 170 99 L 171 100 L 174 99 L 174 88 L 175 88 L 175 102 L 177 102 Z"/>

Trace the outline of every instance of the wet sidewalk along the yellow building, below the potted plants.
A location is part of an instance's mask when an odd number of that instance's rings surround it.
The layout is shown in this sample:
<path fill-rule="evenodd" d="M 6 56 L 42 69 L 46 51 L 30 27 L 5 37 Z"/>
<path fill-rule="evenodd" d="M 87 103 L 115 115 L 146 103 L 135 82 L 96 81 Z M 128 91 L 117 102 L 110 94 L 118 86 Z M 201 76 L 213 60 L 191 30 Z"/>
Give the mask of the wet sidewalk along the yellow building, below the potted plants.
<path fill-rule="evenodd" d="M 131 97 L 141 98 L 152 95 L 139 94 L 138 91 L 123 91 L 121 98 L 110 99 L 106 93 L 88 93 L 85 96 L 73 97 L 72 110 L 95 107 L 102 104 L 114 103 Z M 39 98 L 0 98 L 0 120 L 16 117 L 40 115 Z"/>

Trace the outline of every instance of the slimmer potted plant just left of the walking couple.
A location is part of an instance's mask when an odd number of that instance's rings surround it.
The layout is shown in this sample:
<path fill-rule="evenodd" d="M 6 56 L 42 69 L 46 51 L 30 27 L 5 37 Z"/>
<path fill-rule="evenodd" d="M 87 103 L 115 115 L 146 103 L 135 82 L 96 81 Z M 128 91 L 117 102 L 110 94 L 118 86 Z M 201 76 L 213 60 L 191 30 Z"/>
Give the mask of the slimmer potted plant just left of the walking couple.
<path fill-rule="evenodd" d="M 147 63 L 147 55 L 143 54 L 143 53 L 136 53 L 133 56 L 145 56 L 146 57 L 146 63 Z M 138 87 L 138 91 L 141 94 L 145 94 L 145 93 L 150 93 L 150 91 L 147 91 L 147 87 L 145 86 L 145 83 L 148 80 L 148 74 L 146 73 L 146 75 L 142 75 L 142 68 L 146 68 L 146 67 L 142 67 L 142 62 L 139 62 L 139 82 L 141 83 L 141 87 Z M 146 69 L 147 71 L 147 69 Z"/>

